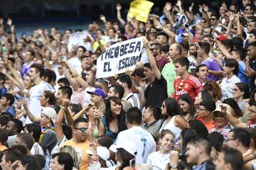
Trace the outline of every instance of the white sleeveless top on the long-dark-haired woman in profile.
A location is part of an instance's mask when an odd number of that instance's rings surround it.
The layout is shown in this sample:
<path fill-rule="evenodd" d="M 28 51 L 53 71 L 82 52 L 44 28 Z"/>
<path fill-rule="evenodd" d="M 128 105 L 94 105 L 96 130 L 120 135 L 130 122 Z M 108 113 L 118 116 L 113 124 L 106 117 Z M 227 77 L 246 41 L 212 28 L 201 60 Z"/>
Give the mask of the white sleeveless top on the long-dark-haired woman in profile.
<path fill-rule="evenodd" d="M 164 129 L 168 129 L 171 130 L 171 132 L 174 133 L 175 137 L 174 137 L 174 143 L 178 142 L 179 140 L 181 140 L 181 128 L 178 128 L 176 125 L 174 125 L 174 120 L 176 118 L 177 115 L 174 115 L 169 123 L 166 123 L 167 120 L 164 120 L 164 123 L 161 127 L 161 129 L 159 130 L 159 132 L 161 133 L 161 130 Z"/>

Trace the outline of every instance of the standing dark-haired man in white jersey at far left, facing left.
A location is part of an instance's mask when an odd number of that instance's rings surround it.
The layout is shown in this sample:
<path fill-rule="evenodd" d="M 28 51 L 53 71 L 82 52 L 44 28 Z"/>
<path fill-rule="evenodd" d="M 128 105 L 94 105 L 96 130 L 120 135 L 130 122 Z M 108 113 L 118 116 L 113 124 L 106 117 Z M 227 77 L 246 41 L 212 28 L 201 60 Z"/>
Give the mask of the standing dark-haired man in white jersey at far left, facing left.
<path fill-rule="evenodd" d="M 52 90 L 52 86 L 42 80 L 43 76 L 43 65 L 41 64 L 32 64 L 31 70 L 29 72 L 29 76 L 31 77 L 31 81 L 35 83 L 29 93 L 29 101 L 28 101 L 28 110 L 35 116 L 40 117 L 41 113 L 41 103 L 40 96 L 43 94 L 43 91 Z M 26 124 L 32 123 L 31 120 L 26 118 Z"/>

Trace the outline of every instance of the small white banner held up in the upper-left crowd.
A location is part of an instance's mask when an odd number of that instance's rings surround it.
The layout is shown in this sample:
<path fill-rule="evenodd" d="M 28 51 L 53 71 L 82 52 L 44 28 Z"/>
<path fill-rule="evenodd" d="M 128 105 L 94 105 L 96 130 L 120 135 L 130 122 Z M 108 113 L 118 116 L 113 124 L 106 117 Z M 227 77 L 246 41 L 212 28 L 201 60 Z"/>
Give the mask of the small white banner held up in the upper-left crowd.
<path fill-rule="evenodd" d="M 70 52 L 73 46 L 85 46 L 84 39 L 87 37 L 87 34 L 87 30 L 85 30 L 80 33 L 73 33 L 68 35 L 68 51 Z"/>

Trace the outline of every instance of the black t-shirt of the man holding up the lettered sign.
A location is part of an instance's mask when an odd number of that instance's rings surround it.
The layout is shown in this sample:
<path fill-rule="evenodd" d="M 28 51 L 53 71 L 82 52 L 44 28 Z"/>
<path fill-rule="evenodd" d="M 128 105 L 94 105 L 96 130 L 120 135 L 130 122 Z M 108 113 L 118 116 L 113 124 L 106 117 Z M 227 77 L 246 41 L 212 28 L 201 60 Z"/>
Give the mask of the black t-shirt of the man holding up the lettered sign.
<path fill-rule="evenodd" d="M 166 79 L 161 75 L 161 79 L 154 81 L 146 87 L 145 90 L 146 108 L 149 105 L 155 105 L 161 108 L 164 99 L 167 98 L 167 83 Z"/>

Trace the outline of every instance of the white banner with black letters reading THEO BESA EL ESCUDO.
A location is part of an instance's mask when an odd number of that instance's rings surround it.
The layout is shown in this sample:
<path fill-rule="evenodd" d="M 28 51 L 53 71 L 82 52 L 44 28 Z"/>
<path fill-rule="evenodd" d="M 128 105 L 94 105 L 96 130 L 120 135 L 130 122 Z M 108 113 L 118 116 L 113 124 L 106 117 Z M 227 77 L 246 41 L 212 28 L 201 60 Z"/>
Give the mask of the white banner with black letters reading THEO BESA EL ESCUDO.
<path fill-rule="evenodd" d="M 135 69 L 142 48 L 142 37 L 111 45 L 97 58 L 97 79 Z"/>

